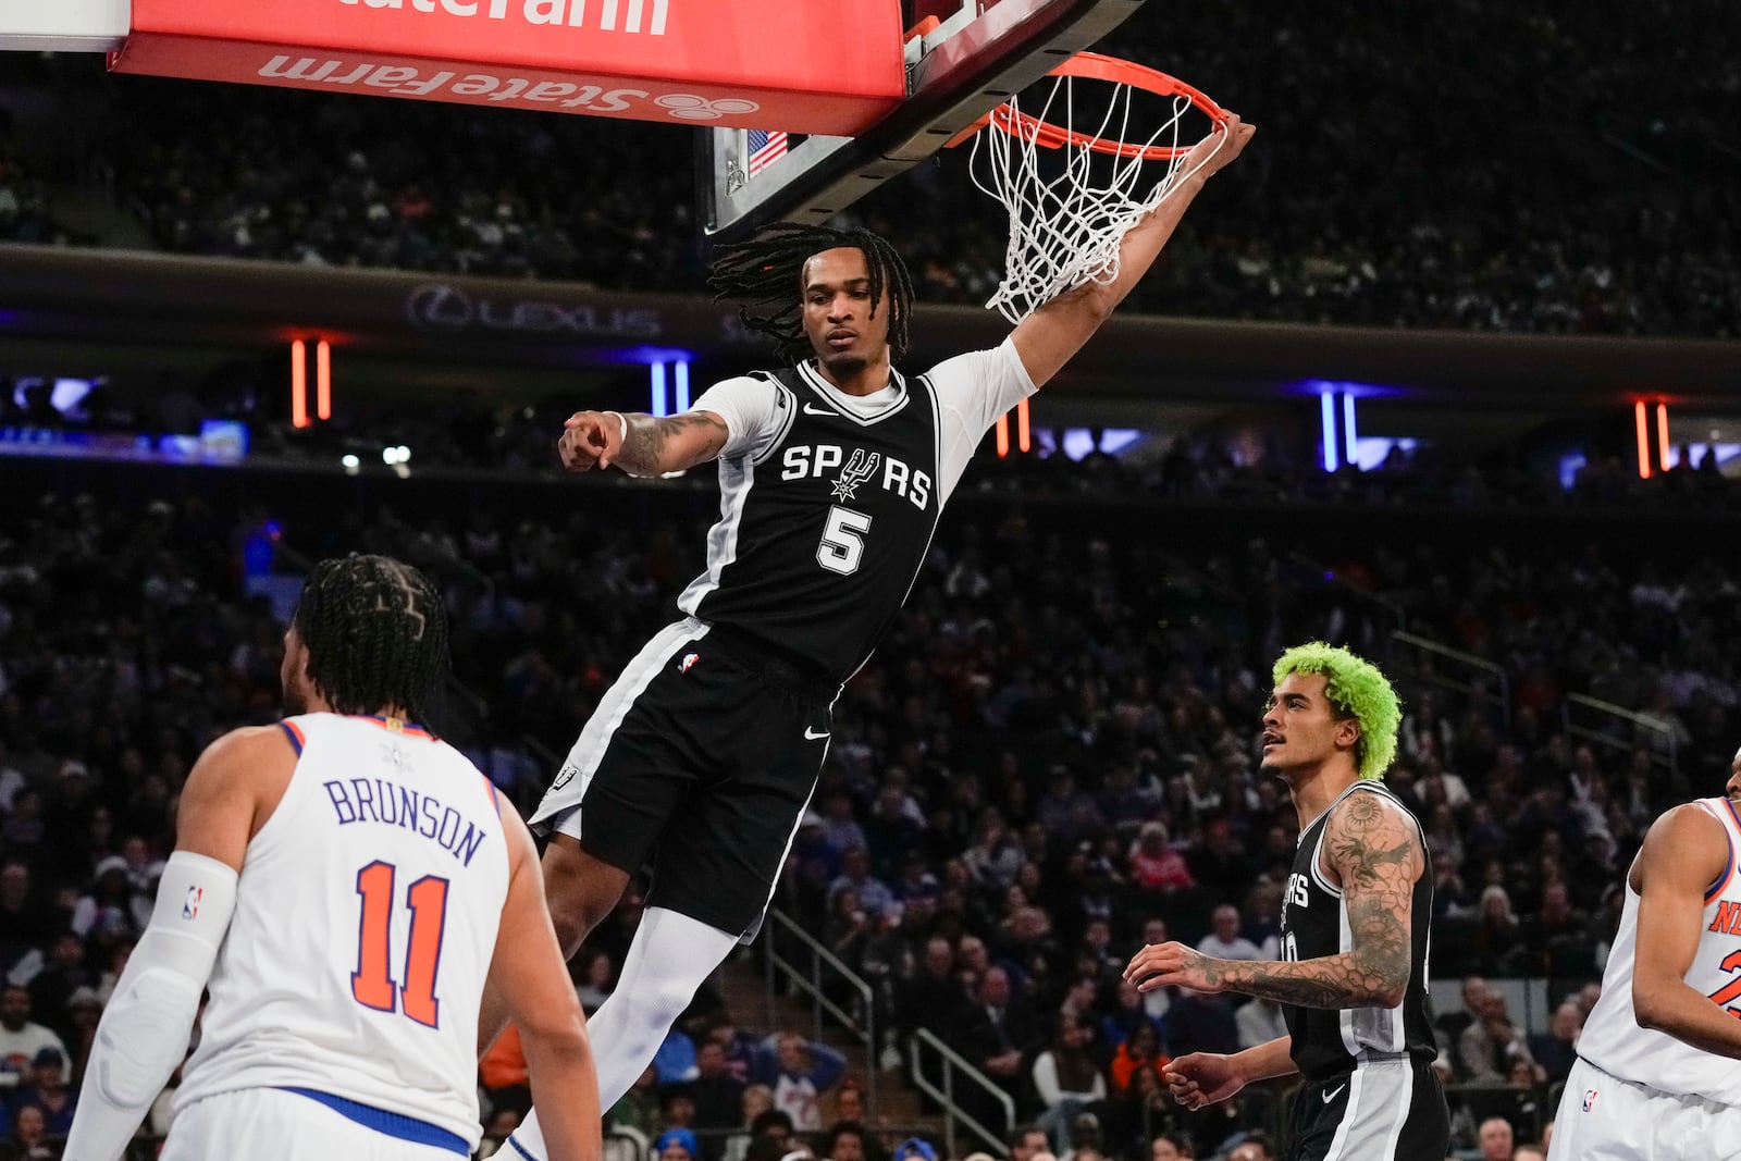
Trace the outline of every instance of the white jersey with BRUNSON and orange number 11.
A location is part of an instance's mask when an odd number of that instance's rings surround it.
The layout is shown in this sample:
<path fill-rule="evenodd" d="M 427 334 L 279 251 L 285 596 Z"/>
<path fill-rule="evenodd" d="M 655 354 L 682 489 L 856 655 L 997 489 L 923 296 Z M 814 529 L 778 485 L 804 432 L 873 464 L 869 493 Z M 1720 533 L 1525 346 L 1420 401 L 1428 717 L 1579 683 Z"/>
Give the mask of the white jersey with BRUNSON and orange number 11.
<path fill-rule="evenodd" d="M 247 844 L 174 1107 L 315 1090 L 475 1149 L 477 1010 L 508 896 L 494 789 L 393 719 L 282 728 L 301 757 Z"/>

